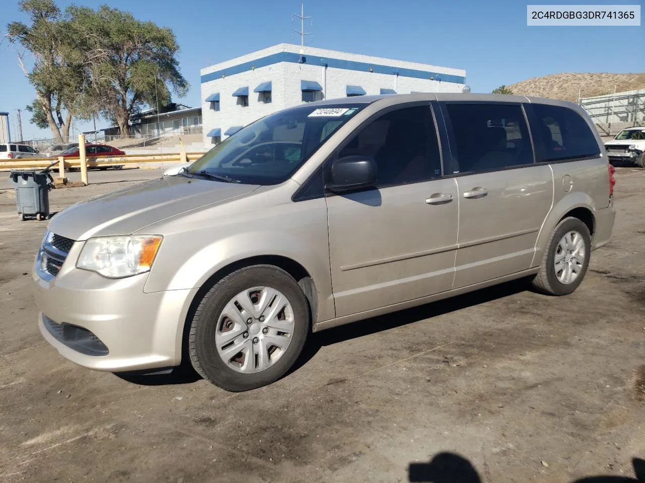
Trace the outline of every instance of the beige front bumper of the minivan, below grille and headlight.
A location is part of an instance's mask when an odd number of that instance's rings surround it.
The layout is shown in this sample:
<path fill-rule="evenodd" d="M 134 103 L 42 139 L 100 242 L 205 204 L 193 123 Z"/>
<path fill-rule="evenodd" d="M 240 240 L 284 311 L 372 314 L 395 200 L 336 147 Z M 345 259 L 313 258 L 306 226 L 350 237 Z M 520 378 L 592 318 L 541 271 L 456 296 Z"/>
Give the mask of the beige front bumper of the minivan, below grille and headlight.
<path fill-rule="evenodd" d="M 94 370 L 181 363 L 184 321 L 197 289 L 146 294 L 148 274 L 107 279 L 76 269 L 72 260 L 70 253 L 52 281 L 32 273 L 38 326 L 48 343 L 66 359 Z"/>

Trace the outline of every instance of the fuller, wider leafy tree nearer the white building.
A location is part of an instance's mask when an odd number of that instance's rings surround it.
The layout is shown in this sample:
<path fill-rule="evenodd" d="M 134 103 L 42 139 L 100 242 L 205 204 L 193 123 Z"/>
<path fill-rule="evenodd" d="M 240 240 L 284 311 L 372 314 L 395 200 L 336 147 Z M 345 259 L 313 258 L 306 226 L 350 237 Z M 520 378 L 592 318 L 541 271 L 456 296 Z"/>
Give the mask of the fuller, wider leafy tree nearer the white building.
<path fill-rule="evenodd" d="M 179 71 L 179 46 L 170 28 L 106 5 L 97 11 L 71 6 L 67 12 L 72 35 L 83 43 L 85 78 L 121 135 L 129 135 L 130 116 L 144 106 L 167 104 L 171 88 L 178 97 L 186 95 L 189 84 Z"/>

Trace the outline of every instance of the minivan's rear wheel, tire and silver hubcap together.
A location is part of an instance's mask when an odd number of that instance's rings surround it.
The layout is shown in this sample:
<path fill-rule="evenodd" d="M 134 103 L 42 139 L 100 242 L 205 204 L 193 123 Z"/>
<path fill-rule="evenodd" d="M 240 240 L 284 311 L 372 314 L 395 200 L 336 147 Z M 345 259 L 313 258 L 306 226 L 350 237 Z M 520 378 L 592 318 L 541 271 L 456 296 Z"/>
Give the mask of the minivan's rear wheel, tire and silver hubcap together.
<path fill-rule="evenodd" d="M 591 236 L 578 218 L 564 218 L 551 235 L 533 287 L 548 295 L 568 295 L 578 288 L 589 267 Z"/>

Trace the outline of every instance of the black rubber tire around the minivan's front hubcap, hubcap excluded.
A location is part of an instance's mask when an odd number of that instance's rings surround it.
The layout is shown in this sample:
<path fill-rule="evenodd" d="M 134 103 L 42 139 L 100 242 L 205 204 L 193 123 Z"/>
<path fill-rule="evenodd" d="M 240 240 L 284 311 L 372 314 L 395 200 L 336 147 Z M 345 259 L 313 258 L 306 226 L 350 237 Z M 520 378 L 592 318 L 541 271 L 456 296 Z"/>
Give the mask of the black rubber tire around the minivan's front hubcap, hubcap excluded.
<path fill-rule="evenodd" d="M 293 309 L 293 339 L 281 357 L 261 372 L 243 374 L 223 361 L 215 346 L 215 331 L 226 304 L 239 292 L 264 285 L 279 290 Z M 199 303 L 188 335 L 190 361 L 204 379 L 230 392 L 243 392 L 280 379 L 295 364 L 311 328 L 309 304 L 295 279 L 273 265 L 253 265 L 225 276 Z"/>

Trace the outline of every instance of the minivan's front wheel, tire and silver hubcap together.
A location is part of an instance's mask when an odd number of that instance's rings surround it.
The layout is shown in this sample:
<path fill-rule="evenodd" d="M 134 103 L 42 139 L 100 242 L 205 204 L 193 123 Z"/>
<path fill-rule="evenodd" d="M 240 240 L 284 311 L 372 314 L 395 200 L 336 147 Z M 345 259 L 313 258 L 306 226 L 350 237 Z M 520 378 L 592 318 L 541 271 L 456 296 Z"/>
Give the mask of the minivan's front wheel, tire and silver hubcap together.
<path fill-rule="evenodd" d="M 188 352 L 195 370 L 231 392 L 273 383 L 293 366 L 310 332 L 298 283 L 272 265 L 224 277 L 195 311 Z"/>

